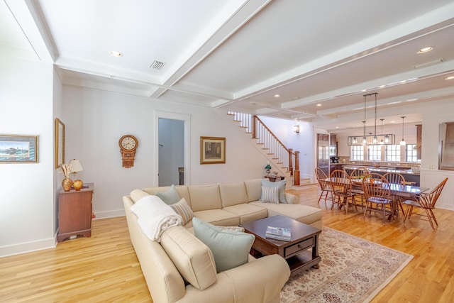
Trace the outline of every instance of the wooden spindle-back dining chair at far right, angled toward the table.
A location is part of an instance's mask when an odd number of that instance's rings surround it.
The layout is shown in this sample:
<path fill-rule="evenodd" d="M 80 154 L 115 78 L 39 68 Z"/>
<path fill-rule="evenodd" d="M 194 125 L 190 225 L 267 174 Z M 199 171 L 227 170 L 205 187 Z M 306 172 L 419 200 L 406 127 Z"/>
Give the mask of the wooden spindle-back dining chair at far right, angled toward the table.
<path fill-rule="evenodd" d="M 421 209 L 424 209 L 426 214 L 418 214 L 419 216 L 427 216 L 427 219 L 429 223 L 432 226 L 432 229 L 435 229 L 435 226 L 433 226 L 433 223 L 435 222 L 436 226 L 438 226 L 437 219 L 435 219 L 435 215 L 433 214 L 433 209 L 435 208 L 435 204 L 438 200 L 438 197 L 440 197 L 441 191 L 443 190 L 443 187 L 445 187 L 446 182 L 448 182 L 448 178 L 445 178 L 440 184 L 437 185 L 434 189 L 431 190 L 429 193 L 421 193 L 419 196 L 416 198 L 416 201 L 414 200 L 406 200 L 404 201 L 404 204 L 407 205 L 406 211 L 405 211 L 405 216 L 404 216 L 404 224 L 406 221 L 406 218 L 410 219 L 411 213 L 413 212 L 413 207 L 419 207 Z"/>

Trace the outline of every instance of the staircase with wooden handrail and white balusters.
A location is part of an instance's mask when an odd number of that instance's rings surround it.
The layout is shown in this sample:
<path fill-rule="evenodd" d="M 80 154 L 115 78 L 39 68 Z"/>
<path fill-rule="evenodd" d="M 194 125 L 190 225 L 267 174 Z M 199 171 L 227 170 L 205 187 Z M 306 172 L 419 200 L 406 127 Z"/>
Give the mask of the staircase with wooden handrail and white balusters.
<path fill-rule="evenodd" d="M 228 111 L 227 114 L 233 116 L 233 121 L 251 135 L 259 145 L 258 149 L 277 168 L 279 174 L 285 176 L 289 186 L 300 184 L 299 151 L 286 148 L 258 116 L 234 111 Z"/>

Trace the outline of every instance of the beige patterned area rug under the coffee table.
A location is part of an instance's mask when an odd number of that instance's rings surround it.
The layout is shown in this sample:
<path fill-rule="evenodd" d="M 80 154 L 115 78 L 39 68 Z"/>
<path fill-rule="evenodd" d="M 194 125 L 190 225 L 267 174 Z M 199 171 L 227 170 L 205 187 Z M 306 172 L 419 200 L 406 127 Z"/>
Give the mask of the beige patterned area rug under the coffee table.
<path fill-rule="evenodd" d="M 370 302 L 412 255 L 323 227 L 320 268 L 294 275 L 284 285 L 281 303 Z"/>

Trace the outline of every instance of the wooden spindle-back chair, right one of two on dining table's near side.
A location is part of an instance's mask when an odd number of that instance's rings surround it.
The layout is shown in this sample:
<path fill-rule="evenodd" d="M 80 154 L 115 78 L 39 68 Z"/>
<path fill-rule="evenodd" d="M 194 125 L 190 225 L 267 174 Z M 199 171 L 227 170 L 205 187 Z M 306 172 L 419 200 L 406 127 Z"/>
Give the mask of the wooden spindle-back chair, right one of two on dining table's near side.
<path fill-rule="evenodd" d="M 375 211 L 383 214 L 383 224 L 386 221 L 387 213 L 391 219 L 394 219 L 394 207 L 388 180 L 380 174 L 371 172 L 362 179 L 362 189 L 366 199 L 364 218 L 367 211 L 369 211 L 369 214 L 371 211 Z"/>

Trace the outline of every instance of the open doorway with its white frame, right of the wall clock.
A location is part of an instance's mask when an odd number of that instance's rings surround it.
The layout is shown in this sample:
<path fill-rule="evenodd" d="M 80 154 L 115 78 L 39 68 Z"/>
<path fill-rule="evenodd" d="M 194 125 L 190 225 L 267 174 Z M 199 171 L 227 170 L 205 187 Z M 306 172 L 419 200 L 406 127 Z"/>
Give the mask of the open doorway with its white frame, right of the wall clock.
<path fill-rule="evenodd" d="M 190 116 L 155 111 L 155 186 L 190 184 Z"/>

